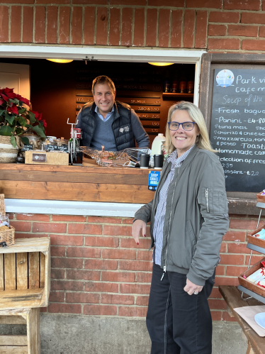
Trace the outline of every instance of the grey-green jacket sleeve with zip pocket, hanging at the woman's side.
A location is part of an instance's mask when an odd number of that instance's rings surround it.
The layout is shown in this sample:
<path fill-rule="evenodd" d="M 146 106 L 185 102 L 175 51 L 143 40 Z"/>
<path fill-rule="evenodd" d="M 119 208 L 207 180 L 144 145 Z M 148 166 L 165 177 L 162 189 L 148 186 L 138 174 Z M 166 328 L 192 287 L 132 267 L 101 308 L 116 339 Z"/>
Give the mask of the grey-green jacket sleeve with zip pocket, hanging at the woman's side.
<path fill-rule="evenodd" d="M 222 236 L 229 228 L 225 176 L 217 157 L 205 167 L 197 201 L 203 223 L 187 278 L 196 285 L 204 285 L 218 265 Z"/>

